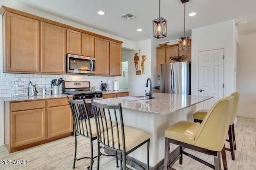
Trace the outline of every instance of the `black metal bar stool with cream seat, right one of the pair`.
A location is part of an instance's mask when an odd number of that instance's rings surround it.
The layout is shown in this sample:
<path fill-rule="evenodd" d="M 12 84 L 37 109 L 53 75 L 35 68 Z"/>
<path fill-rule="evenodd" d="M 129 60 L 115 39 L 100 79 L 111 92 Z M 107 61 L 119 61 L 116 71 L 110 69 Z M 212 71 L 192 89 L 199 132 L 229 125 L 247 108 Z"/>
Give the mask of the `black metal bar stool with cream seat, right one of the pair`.
<path fill-rule="evenodd" d="M 121 170 L 126 170 L 126 162 L 133 162 L 126 159 L 126 156 L 147 143 L 147 167 L 139 165 L 142 169 L 149 170 L 149 142 L 150 134 L 146 133 L 135 127 L 124 126 L 122 107 L 118 105 L 105 105 L 92 101 L 92 107 L 94 111 L 94 117 L 96 119 L 97 136 L 98 136 L 98 151 L 100 144 L 104 145 L 106 149 L 113 150 L 120 154 Z M 106 119 L 109 121 L 106 121 Z M 112 124 L 116 126 L 113 127 Z M 110 129 L 105 129 L 104 124 L 109 124 Z M 102 133 L 104 131 L 104 133 Z M 135 162 L 133 162 L 135 163 Z M 98 165 L 100 164 L 100 152 L 98 152 Z"/>

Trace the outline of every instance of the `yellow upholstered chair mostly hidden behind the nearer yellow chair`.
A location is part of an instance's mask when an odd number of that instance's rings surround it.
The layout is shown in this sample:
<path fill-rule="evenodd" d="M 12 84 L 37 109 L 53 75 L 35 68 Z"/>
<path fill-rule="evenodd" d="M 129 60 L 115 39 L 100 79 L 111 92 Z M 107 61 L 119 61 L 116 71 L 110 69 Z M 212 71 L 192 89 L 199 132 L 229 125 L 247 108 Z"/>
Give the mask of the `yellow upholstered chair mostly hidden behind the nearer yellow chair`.
<path fill-rule="evenodd" d="M 234 92 L 230 96 L 234 96 L 234 105 L 233 105 L 233 111 L 232 111 L 232 118 L 230 121 L 230 126 L 228 129 L 228 138 L 226 141 L 229 142 L 230 144 L 230 149 L 226 148 L 226 150 L 231 152 L 231 158 L 232 160 L 235 160 L 235 150 L 236 150 L 236 137 L 235 137 L 235 130 L 234 130 L 234 121 L 236 118 L 236 111 L 237 111 L 237 106 L 238 106 L 238 101 L 239 101 L 239 96 L 240 92 Z M 202 120 L 208 113 L 208 109 L 201 109 L 194 113 L 194 122 L 199 122 L 202 123 Z"/>

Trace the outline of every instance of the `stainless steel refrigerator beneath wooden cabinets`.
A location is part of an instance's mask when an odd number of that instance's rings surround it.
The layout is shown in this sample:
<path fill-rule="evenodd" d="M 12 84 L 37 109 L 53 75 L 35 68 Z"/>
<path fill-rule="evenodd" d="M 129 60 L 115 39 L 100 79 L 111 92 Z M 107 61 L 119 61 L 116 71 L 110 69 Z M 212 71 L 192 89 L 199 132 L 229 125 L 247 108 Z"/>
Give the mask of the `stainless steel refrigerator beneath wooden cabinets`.
<path fill-rule="evenodd" d="M 191 62 L 161 64 L 160 92 L 191 94 Z"/>

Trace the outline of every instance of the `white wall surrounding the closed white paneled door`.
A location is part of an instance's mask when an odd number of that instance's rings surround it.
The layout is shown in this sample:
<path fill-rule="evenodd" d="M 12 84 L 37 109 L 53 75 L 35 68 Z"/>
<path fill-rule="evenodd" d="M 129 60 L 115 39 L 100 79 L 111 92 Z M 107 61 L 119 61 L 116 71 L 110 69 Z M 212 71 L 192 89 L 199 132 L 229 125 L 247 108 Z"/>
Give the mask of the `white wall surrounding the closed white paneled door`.
<path fill-rule="evenodd" d="M 198 52 L 224 48 L 224 96 L 236 91 L 236 27 L 234 20 L 192 29 L 192 94 L 197 94 Z"/>

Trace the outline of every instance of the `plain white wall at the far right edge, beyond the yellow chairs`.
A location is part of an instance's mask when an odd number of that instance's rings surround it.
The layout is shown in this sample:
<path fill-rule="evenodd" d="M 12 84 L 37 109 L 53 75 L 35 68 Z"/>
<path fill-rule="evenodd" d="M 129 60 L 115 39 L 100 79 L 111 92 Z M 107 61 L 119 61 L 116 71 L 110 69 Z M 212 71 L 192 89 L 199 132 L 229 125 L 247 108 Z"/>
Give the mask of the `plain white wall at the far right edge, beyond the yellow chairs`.
<path fill-rule="evenodd" d="M 240 36 L 237 55 L 238 115 L 256 118 L 256 33 Z"/>

